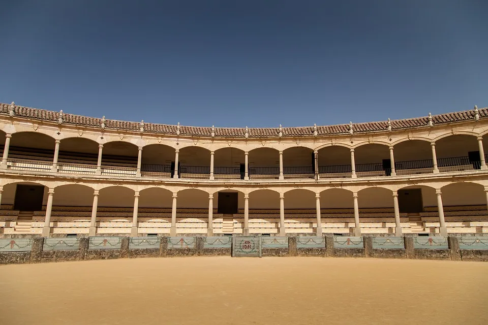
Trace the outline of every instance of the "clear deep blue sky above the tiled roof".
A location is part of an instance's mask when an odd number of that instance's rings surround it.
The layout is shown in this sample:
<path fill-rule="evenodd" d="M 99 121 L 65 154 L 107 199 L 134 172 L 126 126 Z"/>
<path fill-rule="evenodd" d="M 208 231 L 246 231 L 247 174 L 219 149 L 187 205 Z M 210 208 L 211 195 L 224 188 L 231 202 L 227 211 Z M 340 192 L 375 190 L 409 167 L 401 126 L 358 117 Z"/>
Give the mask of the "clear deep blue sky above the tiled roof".
<path fill-rule="evenodd" d="M 0 1 L 0 101 L 305 126 L 488 106 L 488 1 Z"/>

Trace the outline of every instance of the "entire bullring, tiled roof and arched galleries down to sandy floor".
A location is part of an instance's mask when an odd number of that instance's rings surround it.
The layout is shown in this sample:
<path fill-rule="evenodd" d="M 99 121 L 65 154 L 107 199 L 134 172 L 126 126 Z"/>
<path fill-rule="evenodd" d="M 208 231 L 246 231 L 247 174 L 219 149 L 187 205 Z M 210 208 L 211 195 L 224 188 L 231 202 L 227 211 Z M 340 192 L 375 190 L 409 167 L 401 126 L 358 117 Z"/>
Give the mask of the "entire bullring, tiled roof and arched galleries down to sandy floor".
<path fill-rule="evenodd" d="M 488 322 L 487 108 L 220 128 L 12 103 L 0 130 L 0 323 Z"/>

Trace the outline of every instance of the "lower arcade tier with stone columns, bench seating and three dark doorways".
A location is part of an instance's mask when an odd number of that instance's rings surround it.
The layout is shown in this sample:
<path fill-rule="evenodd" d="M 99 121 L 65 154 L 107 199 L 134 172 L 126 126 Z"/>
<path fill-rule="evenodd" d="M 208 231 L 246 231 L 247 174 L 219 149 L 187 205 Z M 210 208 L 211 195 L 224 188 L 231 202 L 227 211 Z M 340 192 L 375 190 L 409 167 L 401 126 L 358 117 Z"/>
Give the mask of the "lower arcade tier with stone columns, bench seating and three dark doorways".
<path fill-rule="evenodd" d="M 0 234 L 488 233 L 480 183 L 197 189 L 4 180 Z"/>

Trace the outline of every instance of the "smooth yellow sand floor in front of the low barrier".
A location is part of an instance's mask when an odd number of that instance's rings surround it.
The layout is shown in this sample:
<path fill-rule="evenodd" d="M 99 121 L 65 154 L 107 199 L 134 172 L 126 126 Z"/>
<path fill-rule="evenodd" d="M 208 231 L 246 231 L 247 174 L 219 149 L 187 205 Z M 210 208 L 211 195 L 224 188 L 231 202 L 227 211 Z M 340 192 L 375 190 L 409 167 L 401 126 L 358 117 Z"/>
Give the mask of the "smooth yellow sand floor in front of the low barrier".
<path fill-rule="evenodd" d="M 0 324 L 488 324 L 488 263 L 183 257 L 0 266 Z"/>

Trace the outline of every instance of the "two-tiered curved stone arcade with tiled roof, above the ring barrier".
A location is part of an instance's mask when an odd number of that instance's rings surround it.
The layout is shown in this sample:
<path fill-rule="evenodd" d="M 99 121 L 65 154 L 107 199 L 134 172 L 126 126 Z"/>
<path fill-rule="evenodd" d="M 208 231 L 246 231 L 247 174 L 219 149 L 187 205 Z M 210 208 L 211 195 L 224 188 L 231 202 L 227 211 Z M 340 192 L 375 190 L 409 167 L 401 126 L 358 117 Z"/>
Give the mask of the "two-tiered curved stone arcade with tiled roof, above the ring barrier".
<path fill-rule="evenodd" d="M 488 233 L 487 134 L 476 107 L 219 128 L 0 104 L 0 233 Z"/>

